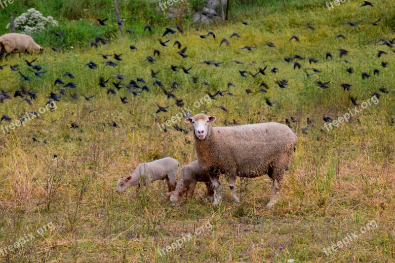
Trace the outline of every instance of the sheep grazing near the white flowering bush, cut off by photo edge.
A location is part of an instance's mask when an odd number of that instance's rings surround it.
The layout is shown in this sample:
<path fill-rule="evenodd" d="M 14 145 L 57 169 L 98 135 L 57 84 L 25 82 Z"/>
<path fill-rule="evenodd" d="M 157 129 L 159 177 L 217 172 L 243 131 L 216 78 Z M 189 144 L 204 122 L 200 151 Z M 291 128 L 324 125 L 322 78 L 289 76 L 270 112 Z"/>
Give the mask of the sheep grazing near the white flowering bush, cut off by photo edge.
<path fill-rule="evenodd" d="M 6 52 L 7 58 L 13 52 L 42 52 L 42 47 L 38 45 L 30 35 L 8 33 L 0 36 L 0 61 Z"/>

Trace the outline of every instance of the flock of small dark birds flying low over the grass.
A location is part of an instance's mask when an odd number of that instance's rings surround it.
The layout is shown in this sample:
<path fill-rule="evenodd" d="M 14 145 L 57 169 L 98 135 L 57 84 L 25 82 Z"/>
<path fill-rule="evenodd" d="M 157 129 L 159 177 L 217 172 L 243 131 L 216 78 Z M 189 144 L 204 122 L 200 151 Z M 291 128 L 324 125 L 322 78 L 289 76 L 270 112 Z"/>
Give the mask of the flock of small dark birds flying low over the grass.
<path fill-rule="evenodd" d="M 373 7 L 374 4 L 368 1 L 364 1 L 361 5 L 361 7 L 364 6 L 370 6 Z M 108 18 L 106 19 L 97 19 L 98 24 L 100 26 L 107 26 L 106 22 L 108 21 Z M 371 26 L 372 27 L 378 27 L 380 26 L 380 22 L 381 22 L 381 18 L 379 18 L 376 21 L 371 22 Z M 122 25 L 125 23 L 125 21 L 117 21 L 118 25 Z M 249 22 L 246 21 L 241 21 L 241 23 L 243 25 L 245 25 L 246 27 L 250 26 Z M 350 27 L 358 27 L 358 25 L 354 22 L 346 22 L 345 23 L 346 26 L 350 26 Z M 305 30 L 309 30 L 314 32 L 315 31 L 315 27 L 313 27 L 312 25 L 307 25 L 305 27 Z M 150 25 L 146 25 L 144 27 L 144 31 L 149 31 L 150 33 L 152 32 L 152 27 Z M 130 29 L 126 29 L 127 33 L 134 33 L 133 30 Z M 148 55 L 145 60 L 143 61 L 143 63 L 149 63 L 152 65 L 152 67 L 154 67 L 157 63 L 157 60 L 155 59 L 156 57 L 161 56 L 161 51 L 159 48 L 169 48 L 169 41 L 170 39 L 167 40 L 162 40 L 163 37 L 165 36 L 169 36 L 169 35 L 175 35 L 177 33 L 184 33 L 182 28 L 180 26 L 172 26 L 170 28 L 166 28 L 163 32 L 163 34 L 161 35 L 161 38 L 158 39 L 158 48 L 153 50 L 153 55 Z M 57 37 L 63 37 L 63 33 L 55 33 Z M 212 31 L 208 32 L 207 34 L 196 34 L 199 38 L 201 39 L 206 39 L 206 38 L 213 38 L 214 40 L 216 39 L 216 34 Z M 219 43 L 219 47 L 221 47 L 222 45 L 227 45 L 229 46 L 232 38 L 237 37 L 240 38 L 242 36 L 240 36 L 239 33 L 232 33 L 228 38 L 222 38 L 222 40 Z M 346 38 L 345 35 L 343 34 L 338 34 L 335 36 L 335 38 Z M 297 35 L 293 35 L 292 37 L 290 37 L 288 39 L 288 41 L 296 41 L 296 42 L 300 42 L 301 39 L 297 36 Z M 109 40 L 97 36 L 93 42 L 90 43 L 91 47 L 98 47 L 99 45 L 106 45 L 109 43 Z M 378 46 L 385 46 L 387 48 L 387 50 L 379 50 L 377 53 L 377 58 L 378 59 L 382 59 L 385 56 L 389 56 L 389 53 L 395 52 L 395 50 L 393 50 L 392 48 L 394 47 L 395 44 L 395 38 L 393 39 L 379 39 L 377 40 L 377 45 Z M 266 45 L 269 48 L 276 48 L 276 44 L 273 42 L 267 42 Z M 174 56 L 180 56 L 182 59 L 185 59 L 187 61 L 189 61 L 190 63 L 191 61 L 191 57 L 188 55 L 188 48 L 182 44 L 179 40 L 175 40 L 173 42 L 172 45 L 173 48 L 176 48 L 177 51 L 174 53 Z M 253 45 L 245 45 L 243 47 L 240 48 L 240 50 L 245 50 L 245 52 L 254 52 L 254 50 L 256 49 L 256 46 Z M 60 49 L 52 47 L 52 50 L 54 52 L 60 52 Z M 131 52 L 136 52 L 138 50 L 138 48 L 135 45 L 130 45 L 130 50 Z M 349 51 L 346 49 L 338 49 L 338 56 L 341 60 L 342 63 L 346 63 L 347 65 L 351 65 L 350 61 L 347 60 L 347 56 L 349 55 Z M 99 54 L 98 54 L 99 55 Z M 109 66 L 109 67 L 117 67 L 119 63 L 122 63 L 122 54 L 100 54 L 100 56 L 105 60 L 102 64 L 104 64 L 105 67 Z M 335 55 L 327 52 L 325 54 L 325 60 L 332 60 L 333 57 Z M 294 70 L 300 70 L 303 69 L 304 72 L 306 73 L 306 76 L 311 78 L 311 76 L 313 75 L 318 75 L 319 73 L 321 73 L 322 71 L 318 68 L 314 67 L 314 64 L 316 64 L 319 60 L 314 58 L 314 57 L 308 57 L 305 58 L 304 56 L 300 56 L 300 55 L 294 55 L 292 57 L 285 57 L 284 61 L 288 64 L 292 64 L 292 67 Z M 308 61 L 309 63 L 309 67 L 305 67 L 302 65 L 302 62 L 304 61 Z M 26 64 L 29 67 L 29 71 L 33 72 L 34 77 L 36 78 L 42 78 L 43 75 L 45 73 L 47 73 L 47 71 L 42 71 L 43 66 L 39 66 L 36 65 L 37 60 L 33 60 L 33 61 L 27 61 L 26 60 Z M 215 67 L 220 67 L 222 64 L 224 63 L 224 61 L 202 61 L 199 64 L 204 64 L 207 66 L 215 66 Z M 237 65 L 244 65 L 245 63 L 242 61 L 238 61 L 238 60 L 234 60 L 231 63 L 235 63 Z M 255 62 L 250 62 L 249 65 L 252 66 L 254 65 Z M 247 64 L 248 65 L 248 64 Z M 4 70 L 6 68 L 6 66 L 8 66 L 7 64 L 0 66 L 0 70 Z M 92 70 L 95 70 L 98 68 L 98 64 L 96 64 L 95 62 L 88 62 L 85 66 L 89 67 Z M 385 68 L 388 67 L 388 63 L 385 61 L 381 62 L 381 67 Z M 24 73 L 21 72 L 21 70 L 19 70 L 19 65 L 9 65 L 9 68 L 11 71 L 14 71 L 15 74 L 18 74 L 24 81 L 31 81 L 33 76 L 27 76 Z M 184 67 L 184 66 L 175 66 L 175 65 L 171 65 L 170 69 L 172 71 L 175 72 L 183 72 L 184 74 L 190 75 L 191 77 L 191 81 L 193 83 L 198 83 L 199 82 L 199 78 L 197 75 L 193 74 L 193 66 L 190 67 Z M 352 66 L 349 66 L 347 69 L 347 72 L 349 74 L 353 74 L 354 72 L 354 68 Z M 268 72 L 270 71 L 270 73 Z M 258 78 L 259 76 L 265 76 L 267 74 L 276 74 L 277 72 L 279 72 L 279 69 L 276 67 L 273 67 L 271 69 L 268 68 L 268 65 L 266 66 L 262 66 L 259 67 L 257 72 L 251 72 L 251 70 L 238 70 L 238 75 L 240 78 L 247 78 L 247 77 L 253 77 L 253 78 Z M 380 75 L 381 70 L 378 68 L 374 68 L 373 69 L 373 76 L 379 76 Z M 162 81 L 160 81 L 158 79 L 157 74 L 159 73 L 159 71 L 156 71 L 155 69 L 151 69 L 151 77 L 152 80 L 150 81 L 146 81 L 144 80 L 142 77 L 138 77 L 136 78 L 136 80 L 132 79 L 129 82 L 124 82 L 126 79 L 126 75 L 122 75 L 122 74 L 116 74 L 115 76 L 113 76 L 112 78 L 104 78 L 104 77 L 100 77 L 99 81 L 98 81 L 98 85 L 102 88 L 106 88 L 107 89 L 107 94 L 108 95 L 116 95 L 117 92 L 120 89 L 127 89 L 133 96 L 141 96 L 143 95 L 144 92 L 150 92 L 150 87 L 149 87 L 149 83 L 152 83 L 152 87 L 154 86 L 158 86 L 162 91 L 164 96 L 166 96 L 167 99 L 174 99 L 175 100 L 175 105 L 177 105 L 178 107 L 183 107 L 184 106 L 184 102 L 183 99 L 177 98 L 177 96 L 174 94 L 174 91 L 177 90 L 177 88 L 180 86 L 180 84 L 177 81 L 173 81 L 172 84 L 170 85 L 170 89 L 166 90 L 165 86 L 163 85 Z M 372 77 L 371 74 L 369 74 L 368 72 L 362 72 L 361 73 L 361 78 L 362 79 L 367 79 Z M 61 77 L 56 78 L 56 80 L 54 81 L 54 87 L 57 88 L 57 92 L 51 92 L 48 96 L 46 96 L 46 98 L 48 99 L 47 104 L 51 104 L 52 101 L 60 101 L 61 98 L 63 96 L 67 96 L 67 89 L 70 89 L 70 97 L 72 99 L 79 99 L 79 95 L 76 92 L 72 92 L 72 90 L 75 90 L 78 87 L 78 84 L 76 82 L 73 81 L 74 79 L 74 75 L 71 72 L 65 72 Z M 113 80 L 111 80 L 113 79 Z M 110 83 L 111 81 L 111 83 Z M 321 80 L 317 80 L 316 84 L 319 88 L 322 89 L 327 89 L 330 87 L 330 80 L 325 80 L 325 81 L 321 81 Z M 287 88 L 288 85 L 288 80 L 287 79 L 278 79 L 276 80 L 275 83 L 273 83 L 275 85 L 278 85 L 279 88 L 284 89 Z M 210 86 L 210 84 L 207 81 L 203 81 L 201 82 L 201 85 L 203 86 Z M 227 84 L 228 89 L 221 91 L 218 90 L 217 92 L 215 92 L 214 94 L 211 94 L 209 92 L 207 92 L 207 95 L 211 98 L 216 100 L 218 98 L 218 96 L 222 97 L 222 96 L 234 96 L 233 93 L 229 92 L 228 90 L 230 89 L 230 87 L 235 87 L 236 85 L 233 82 L 228 82 Z M 352 88 L 352 84 L 350 83 L 342 83 L 341 87 L 344 89 L 344 91 L 350 91 Z M 270 88 L 270 85 L 265 83 L 264 81 L 262 81 L 259 86 L 258 86 L 258 92 L 260 93 L 267 93 L 268 89 Z M 252 94 L 253 91 L 250 89 L 246 89 L 245 92 L 247 94 Z M 378 99 L 385 94 L 389 94 L 390 91 L 388 91 L 386 88 L 380 88 L 378 89 L 378 91 L 375 91 L 373 94 L 371 94 L 371 96 L 376 96 Z M 32 104 L 32 100 L 36 100 L 38 96 L 38 92 L 36 91 L 27 91 L 27 90 L 17 90 L 14 92 L 14 94 L 12 95 L 10 91 L 3 91 L 1 90 L 0 93 L 0 102 L 4 103 L 5 100 L 7 99 L 12 99 L 12 98 L 16 98 L 18 99 L 18 97 L 21 98 L 20 102 L 26 102 L 29 104 Z M 84 99 L 86 101 L 91 101 L 94 97 L 94 95 L 85 95 L 83 96 Z M 120 97 L 119 98 L 120 101 L 124 104 L 128 103 L 128 99 L 127 97 Z M 355 97 L 350 95 L 350 100 L 351 102 L 355 105 L 358 106 L 358 102 L 356 100 Z M 265 98 L 265 103 L 268 106 L 273 106 L 276 102 L 274 101 L 270 101 L 268 98 Z M 157 105 L 158 109 L 156 111 L 156 113 L 159 112 L 167 112 L 167 108 L 169 106 L 160 106 Z M 224 106 L 218 106 L 218 108 L 227 111 L 227 109 Z M 297 120 L 294 117 L 290 118 L 292 122 L 297 122 Z M 11 121 L 11 118 L 8 115 L 2 115 L 1 117 L 1 121 Z M 0 122 L 1 122 L 0 121 Z M 329 116 L 323 116 L 323 121 L 325 122 L 332 122 L 332 118 Z M 394 125 L 395 120 L 393 119 L 392 121 L 392 125 Z M 236 122 L 234 121 L 234 123 L 236 124 Z M 286 119 L 286 123 L 288 124 L 288 126 L 290 126 L 290 121 L 288 119 Z M 313 123 L 312 120 L 307 120 L 307 126 L 302 128 L 302 131 L 304 133 L 306 133 L 307 129 L 309 128 L 309 126 L 311 126 Z M 186 132 L 185 130 L 180 129 L 178 126 L 174 127 L 176 130 L 181 131 L 181 132 Z"/>

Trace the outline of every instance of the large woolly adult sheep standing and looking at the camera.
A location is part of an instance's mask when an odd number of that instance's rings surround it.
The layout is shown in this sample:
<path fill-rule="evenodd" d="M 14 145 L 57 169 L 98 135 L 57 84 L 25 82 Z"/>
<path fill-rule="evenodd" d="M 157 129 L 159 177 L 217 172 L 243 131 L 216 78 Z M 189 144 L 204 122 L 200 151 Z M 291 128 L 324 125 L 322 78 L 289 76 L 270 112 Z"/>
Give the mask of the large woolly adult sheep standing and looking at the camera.
<path fill-rule="evenodd" d="M 272 179 L 268 207 L 278 199 L 284 170 L 296 146 L 296 135 L 279 123 L 261 123 L 234 127 L 212 127 L 214 116 L 197 114 L 185 119 L 194 128 L 197 161 L 210 173 L 214 189 L 214 205 L 221 201 L 219 174 L 223 173 L 235 202 L 236 177 L 257 177 L 266 173 Z"/>

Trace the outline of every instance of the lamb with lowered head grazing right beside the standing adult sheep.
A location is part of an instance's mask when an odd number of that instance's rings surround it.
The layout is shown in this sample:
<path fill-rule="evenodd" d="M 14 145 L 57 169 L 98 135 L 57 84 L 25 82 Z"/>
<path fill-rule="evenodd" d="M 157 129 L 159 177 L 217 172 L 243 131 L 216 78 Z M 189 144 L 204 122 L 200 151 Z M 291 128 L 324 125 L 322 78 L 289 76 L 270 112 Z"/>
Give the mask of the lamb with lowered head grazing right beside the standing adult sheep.
<path fill-rule="evenodd" d="M 211 200 L 214 196 L 214 191 L 210 176 L 200 168 L 197 161 L 181 168 L 176 189 L 166 195 L 170 197 L 170 201 L 173 203 L 181 201 L 185 192 L 187 193 L 187 198 L 191 198 L 194 195 L 197 182 L 203 182 L 206 185 L 207 197 Z"/>

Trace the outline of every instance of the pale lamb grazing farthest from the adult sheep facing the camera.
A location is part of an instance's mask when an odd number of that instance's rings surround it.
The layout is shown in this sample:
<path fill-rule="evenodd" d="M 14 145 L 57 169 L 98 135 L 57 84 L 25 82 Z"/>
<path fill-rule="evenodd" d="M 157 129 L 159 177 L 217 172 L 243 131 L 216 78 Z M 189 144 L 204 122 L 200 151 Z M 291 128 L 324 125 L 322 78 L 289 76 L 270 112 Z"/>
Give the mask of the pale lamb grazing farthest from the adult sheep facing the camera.
<path fill-rule="evenodd" d="M 129 187 L 151 185 L 156 180 L 166 180 L 168 191 L 176 188 L 176 175 L 180 163 L 173 158 L 163 158 L 151 163 L 139 164 L 131 176 L 120 178 L 117 182 L 117 193 Z"/>

